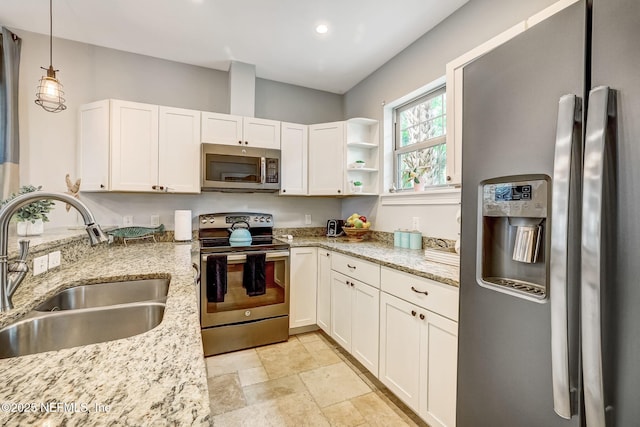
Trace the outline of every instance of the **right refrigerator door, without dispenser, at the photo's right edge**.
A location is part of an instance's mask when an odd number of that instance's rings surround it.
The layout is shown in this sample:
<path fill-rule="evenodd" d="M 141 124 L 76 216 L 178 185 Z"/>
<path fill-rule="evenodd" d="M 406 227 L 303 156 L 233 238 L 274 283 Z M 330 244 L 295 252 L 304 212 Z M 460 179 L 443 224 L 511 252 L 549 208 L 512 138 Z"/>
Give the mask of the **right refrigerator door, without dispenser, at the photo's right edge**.
<path fill-rule="evenodd" d="M 600 309 L 606 421 L 622 427 L 640 422 L 640 2 L 593 3 L 592 86 L 609 86 L 617 98 L 617 124 L 607 129 L 613 173 L 604 183 Z"/>

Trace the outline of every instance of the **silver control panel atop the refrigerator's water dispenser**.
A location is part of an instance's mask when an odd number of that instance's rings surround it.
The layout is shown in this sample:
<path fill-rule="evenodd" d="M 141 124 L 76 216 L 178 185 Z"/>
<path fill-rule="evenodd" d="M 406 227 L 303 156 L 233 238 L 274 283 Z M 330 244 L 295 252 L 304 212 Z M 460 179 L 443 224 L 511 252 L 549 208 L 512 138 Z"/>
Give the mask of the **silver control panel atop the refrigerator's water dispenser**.
<path fill-rule="evenodd" d="M 486 183 L 482 186 L 482 215 L 546 218 L 547 188 L 545 180 Z"/>

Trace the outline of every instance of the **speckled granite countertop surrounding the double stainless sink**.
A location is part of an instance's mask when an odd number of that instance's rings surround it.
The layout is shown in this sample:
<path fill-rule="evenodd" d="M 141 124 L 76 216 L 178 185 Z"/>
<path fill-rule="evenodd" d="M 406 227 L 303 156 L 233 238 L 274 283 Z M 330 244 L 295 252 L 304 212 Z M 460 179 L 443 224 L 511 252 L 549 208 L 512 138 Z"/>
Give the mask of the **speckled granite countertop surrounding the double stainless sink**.
<path fill-rule="evenodd" d="M 0 360 L 0 425 L 209 425 L 193 246 L 101 245 L 75 263 L 25 280 L 13 298 L 16 308 L 0 313 L 0 326 L 63 288 L 114 279 L 170 277 L 171 282 L 162 323 L 151 331 Z M 6 403 L 36 404 L 38 410 L 11 412 L 16 406 Z M 41 403 L 57 404 L 56 412 L 43 412 Z"/>

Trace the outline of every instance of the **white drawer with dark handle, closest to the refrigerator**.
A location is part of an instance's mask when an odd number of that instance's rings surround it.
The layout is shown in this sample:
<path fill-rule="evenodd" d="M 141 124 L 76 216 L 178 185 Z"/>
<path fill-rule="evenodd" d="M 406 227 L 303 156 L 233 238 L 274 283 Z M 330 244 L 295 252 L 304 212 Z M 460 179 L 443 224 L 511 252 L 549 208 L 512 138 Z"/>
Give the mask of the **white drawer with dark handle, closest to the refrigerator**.
<path fill-rule="evenodd" d="M 458 321 L 458 288 L 387 267 L 380 279 L 384 292 Z"/>

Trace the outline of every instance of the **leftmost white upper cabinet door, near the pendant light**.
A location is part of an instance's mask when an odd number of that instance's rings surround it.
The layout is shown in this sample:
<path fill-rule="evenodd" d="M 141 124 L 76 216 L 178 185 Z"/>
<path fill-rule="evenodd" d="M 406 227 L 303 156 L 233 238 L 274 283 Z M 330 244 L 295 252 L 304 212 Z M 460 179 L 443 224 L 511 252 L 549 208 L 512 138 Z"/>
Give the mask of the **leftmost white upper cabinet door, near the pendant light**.
<path fill-rule="evenodd" d="M 80 188 L 109 190 L 109 100 L 83 105 L 79 115 Z"/>

